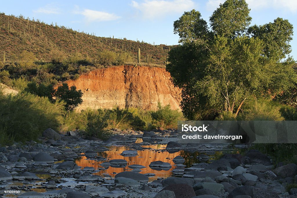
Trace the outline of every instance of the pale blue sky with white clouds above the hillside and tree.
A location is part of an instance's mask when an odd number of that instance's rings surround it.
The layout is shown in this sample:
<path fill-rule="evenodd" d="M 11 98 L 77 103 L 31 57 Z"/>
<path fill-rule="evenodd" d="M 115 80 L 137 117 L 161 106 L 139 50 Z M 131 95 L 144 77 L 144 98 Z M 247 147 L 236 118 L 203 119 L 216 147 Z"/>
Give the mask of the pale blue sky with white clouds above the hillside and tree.
<path fill-rule="evenodd" d="M 252 25 L 288 19 L 297 28 L 296 0 L 246 0 L 251 9 Z M 155 44 L 178 44 L 173 21 L 184 11 L 196 9 L 208 21 L 224 0 L 109 0 L 109 1 L 3 1 L 0 12 L 7 15 L 58 23 L 96 36 L 140 40 Z M 297 33 L 291 55 L 297 60 Z"/>

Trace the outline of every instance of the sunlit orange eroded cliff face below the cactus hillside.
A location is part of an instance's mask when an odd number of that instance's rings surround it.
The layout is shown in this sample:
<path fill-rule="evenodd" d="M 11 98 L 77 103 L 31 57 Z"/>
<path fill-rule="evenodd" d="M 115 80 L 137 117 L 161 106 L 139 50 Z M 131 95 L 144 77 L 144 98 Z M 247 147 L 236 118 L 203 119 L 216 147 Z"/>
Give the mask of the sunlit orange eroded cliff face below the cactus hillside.
<path fill-rule="evenodd" d="M 83 91 L 83 104 L 78 110 L 115 106 L 155 110 L 158 102 L 180 109 L 181 91 L 173 86 L 170 73 L 163 68 L 115 66 L 94 70 L 67 83 Z"/>

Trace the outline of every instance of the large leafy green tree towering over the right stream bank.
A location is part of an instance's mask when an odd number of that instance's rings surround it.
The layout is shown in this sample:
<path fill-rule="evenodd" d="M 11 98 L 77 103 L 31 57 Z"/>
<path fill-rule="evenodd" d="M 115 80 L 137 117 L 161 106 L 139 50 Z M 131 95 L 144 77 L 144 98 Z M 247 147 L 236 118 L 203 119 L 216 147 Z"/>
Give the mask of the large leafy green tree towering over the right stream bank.
<path fill-rule="evenodd" d="M 290 53 L 293 26 L 281 18 L 249 27 L 244 0 L 227 0 L 210 18 L 198 11 L 174 22 L 180 36 L 169 52 L 166 69 L 182 90 L 181 108 L 188 119 L 211 119 L 222 111 L 235 116 L 250 99 L 271 97 L 296 82 Z"/>

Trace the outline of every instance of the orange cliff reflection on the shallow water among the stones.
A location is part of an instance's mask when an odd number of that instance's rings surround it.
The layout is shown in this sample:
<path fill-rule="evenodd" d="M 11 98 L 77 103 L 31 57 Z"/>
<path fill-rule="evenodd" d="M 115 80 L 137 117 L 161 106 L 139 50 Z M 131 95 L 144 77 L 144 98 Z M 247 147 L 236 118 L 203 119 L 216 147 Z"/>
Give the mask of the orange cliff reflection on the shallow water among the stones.
<path fill-rule="evenodd" d="M 173 158 L 176 156 L 180 155 L 184 157 L 185 162 L 184 165 L 186 167 L 191 167 L 193 163 L 199 163 L 198 159 L 196 156 L 199 155 L 197 151 L 178 151 L 175 153 L 168 153 L 166 150 L 166 145 L 144 145 L 143 148 L 151 148 L 151 149 L 146 149 L 144 151 L 138 151 L 137 156 L 121 156 L 120 154 L 123 151 L 129 150 L 128 147 L 125 146 L 111 146 L 109 151 L 104 151 L 104 152 L 98 152 L 98 156 L 104 156 L 108 158 L 109 161 L 111 159 L 125 159 L 127 161 L 127 166 L 126 167 L 120 167 L 120 168 L 115 168 L 115 167 L 109 167 L 108 169 L 104 170 L 99 170 L 99 172 L 94 173 L 95 175 L 103 175 L 103 174 L 108 174 L 112 177 L 116 175 L 119 172 L 123 171 L 131 171 L 133 169 L 130 169 L 128 166 L 132 164 L 140 164 L 145 166 L 145 168 L 141 169 L 142 171 L 140 172 L 141 174 L 146 174 L 146 173 L 154 173 L 155 176 L 150 177 L 149 181 L 156 180 L 157 178 L 167 178 L 172 176 L 172 170 L 175 168 L 175 164 L 172 161 Z M 214 154 L 215 155 L 215 154 Z M 211 157 L 214 157 L 211 156 Z M 149 167 L 149 164 L 153 161 L 163 161 L 163 162 L 168 162 L 172 165 L 172 167 L 169 170 L 153 170 Z M 95 169 L 101 168 L 100 164 L 104 161 L 96 161 L 96 160 L 89 160 L 87 159 L 86 156 L 81 156 L 79 158 L 75 159 L 75 163 L 82 167 L 94 167 Z"/>

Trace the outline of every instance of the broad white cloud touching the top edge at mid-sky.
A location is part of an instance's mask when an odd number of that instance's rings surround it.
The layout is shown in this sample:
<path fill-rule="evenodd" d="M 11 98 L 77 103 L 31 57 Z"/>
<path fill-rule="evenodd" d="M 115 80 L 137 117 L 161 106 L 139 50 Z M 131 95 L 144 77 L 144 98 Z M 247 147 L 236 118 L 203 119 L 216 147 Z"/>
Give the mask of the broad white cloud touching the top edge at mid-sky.
<path fill-rule="evenodd" d="M 142 12 L 144 18 L 158 18 L 170 13 L 183 13 L 193 9 L 192 0 L 145 0 L 142 3 L 132 1 L 131 6 Z"/>

